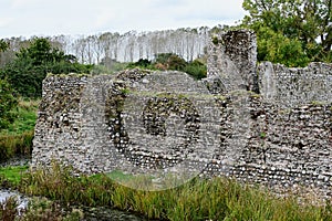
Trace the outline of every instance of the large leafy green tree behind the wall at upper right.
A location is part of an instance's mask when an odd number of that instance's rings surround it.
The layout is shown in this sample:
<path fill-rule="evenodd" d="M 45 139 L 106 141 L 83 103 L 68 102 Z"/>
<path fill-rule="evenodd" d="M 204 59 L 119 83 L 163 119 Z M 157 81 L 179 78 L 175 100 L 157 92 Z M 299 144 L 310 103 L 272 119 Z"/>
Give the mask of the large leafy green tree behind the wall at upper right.
<path fill-rule="evenodd" d="M 260 61 L 273 59 L 271 51 L 291 54 L 272 61 L 290 66 L 332 61 L 332 0 L 245 0 L 242 7 L 249 12 L 242 25 L 256 31 Z M 287 63 L 293 56 L 299 61 Z"/>

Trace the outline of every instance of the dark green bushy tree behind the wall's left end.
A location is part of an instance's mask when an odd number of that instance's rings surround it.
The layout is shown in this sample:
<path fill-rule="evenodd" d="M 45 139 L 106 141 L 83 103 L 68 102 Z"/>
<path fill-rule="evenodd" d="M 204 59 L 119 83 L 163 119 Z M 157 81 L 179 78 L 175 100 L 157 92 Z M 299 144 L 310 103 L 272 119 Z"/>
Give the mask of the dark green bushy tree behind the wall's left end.
<path fill-rule="evenodd" d="M 92 65 L 77 63 L 73 55 L 52 48 L 46 39 L 35 39 L 29 48 L 23 48 L 17 57 L 0 72 L 22 96 L 41 96 L 42 81 L 48 73 L 90 73 Z"/>

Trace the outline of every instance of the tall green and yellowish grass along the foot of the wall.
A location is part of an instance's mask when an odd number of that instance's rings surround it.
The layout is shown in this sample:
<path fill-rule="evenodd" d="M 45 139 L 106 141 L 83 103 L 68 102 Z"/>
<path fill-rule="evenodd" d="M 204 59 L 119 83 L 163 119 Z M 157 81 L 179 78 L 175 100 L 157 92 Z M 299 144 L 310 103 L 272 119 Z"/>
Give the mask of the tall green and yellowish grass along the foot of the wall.
<path fill-rule="evenodd" d="M 8 173 L 6 173 L 8 175 Z M 162 220 L 332 220 L 332 207 L 299 204 L 297 197 L 277 198 L 259 188 L 235 180 L 195 178 L 164 191 L 143 191 L 118 185 L 110 177 L 132 180 L 132 176 L 72 176 L 70 168 L 52 168 L 22 173 L 18 189 L 65 204 L 112 207 Z M 144 183 L 143 183 L 144 185 Z"/>

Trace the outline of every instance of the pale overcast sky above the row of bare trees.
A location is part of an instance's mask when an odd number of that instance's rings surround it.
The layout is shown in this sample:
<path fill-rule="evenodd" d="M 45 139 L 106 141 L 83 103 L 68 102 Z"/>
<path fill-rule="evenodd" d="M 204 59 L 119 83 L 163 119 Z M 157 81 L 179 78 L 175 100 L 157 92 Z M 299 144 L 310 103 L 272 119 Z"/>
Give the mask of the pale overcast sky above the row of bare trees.
<path fill-rule="evenodd" d="M 1 0 L 0 39 L 235 24 L 242 0 Z"/>

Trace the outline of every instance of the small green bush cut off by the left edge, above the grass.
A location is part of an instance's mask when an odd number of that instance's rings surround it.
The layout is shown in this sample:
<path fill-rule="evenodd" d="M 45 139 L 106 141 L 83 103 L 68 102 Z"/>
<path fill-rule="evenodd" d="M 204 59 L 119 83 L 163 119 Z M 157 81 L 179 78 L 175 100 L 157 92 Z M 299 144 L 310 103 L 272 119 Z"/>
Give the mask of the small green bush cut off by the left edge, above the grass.
<path fill-rule="evenodd" d="M 13 122 L 14 116 L 11 110 L 17 106 L 14 91 L 6 80 L 0 80 L 0 129 L 6 128 Z"/>

